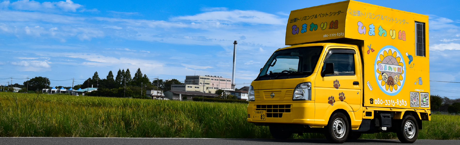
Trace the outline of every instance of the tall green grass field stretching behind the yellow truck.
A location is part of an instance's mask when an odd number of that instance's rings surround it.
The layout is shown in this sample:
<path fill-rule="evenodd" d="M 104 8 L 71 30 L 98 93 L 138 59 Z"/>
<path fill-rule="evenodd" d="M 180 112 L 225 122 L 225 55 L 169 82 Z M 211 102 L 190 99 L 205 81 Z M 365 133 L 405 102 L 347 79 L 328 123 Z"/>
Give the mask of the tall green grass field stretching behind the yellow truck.
<path fill-rule="evenodd" d="M 247 104 L 0 93 L 0 137 L 271 138 Z M 424 121 L 419 139 L 460 139 L 460 116 Z M 324 138 L 304 134 L 294 138 Z M 364 134 L 363 139 L 396 139 Z"/>

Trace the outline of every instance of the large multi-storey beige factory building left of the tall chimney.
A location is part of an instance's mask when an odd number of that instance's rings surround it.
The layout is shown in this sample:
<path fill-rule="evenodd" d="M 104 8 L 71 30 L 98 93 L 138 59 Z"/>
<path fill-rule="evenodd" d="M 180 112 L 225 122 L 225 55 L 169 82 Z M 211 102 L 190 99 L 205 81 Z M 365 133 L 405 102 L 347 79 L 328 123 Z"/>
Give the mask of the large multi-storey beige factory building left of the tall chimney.
<path fill-rule="evenodd" d="M 228 94 L 231 89 L 232 80 L 220 76 L 185 76 L 184 84 L 173 84 L 173 91 L 199 91 L 205 93 L 215 93 L 218 89 L 225 90 Z"/>

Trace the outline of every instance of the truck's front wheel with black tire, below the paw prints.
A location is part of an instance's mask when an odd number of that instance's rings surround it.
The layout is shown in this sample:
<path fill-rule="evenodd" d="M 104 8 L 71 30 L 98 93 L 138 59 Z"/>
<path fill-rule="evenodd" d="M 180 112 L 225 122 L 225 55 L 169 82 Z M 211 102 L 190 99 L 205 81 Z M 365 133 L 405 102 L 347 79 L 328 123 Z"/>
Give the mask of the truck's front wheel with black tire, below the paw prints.
<path fill-rule="evenodd" d="M 341 144 L 346 141 L 350 134 L 350 125 L 345 114 L 334 112 L 329 118 L 328 126 L 326 126 L 324 136 L 330 143 Z"/>

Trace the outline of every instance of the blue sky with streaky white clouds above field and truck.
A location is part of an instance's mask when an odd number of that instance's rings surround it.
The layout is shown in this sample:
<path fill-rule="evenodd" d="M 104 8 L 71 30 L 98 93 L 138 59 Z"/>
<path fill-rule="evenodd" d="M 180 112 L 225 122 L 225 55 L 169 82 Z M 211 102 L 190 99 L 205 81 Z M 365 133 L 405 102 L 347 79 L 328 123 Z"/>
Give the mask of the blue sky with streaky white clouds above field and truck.
<path fill-rule="evenodd" d="M 237 40 L 236 83 L 250 83 L 271 53 L 285 47 L 290 11 L 334 2 L 338 1 L 1 1 L 0 78 L 86 79 L 96 71 L 105 78 L 110 70 L 127 68 L 132 75 L 141 68 L 150 78 L 160 79 L 183 81 L 193 74 L 231 78 L 232 42 Z M 459 1 L 362 2 L 429 15 L 431 80 L 460 82 Z M 7 81 L 0 79 L 0 84 Z M 458 83 L 431 86 L 460 91 Z"/>

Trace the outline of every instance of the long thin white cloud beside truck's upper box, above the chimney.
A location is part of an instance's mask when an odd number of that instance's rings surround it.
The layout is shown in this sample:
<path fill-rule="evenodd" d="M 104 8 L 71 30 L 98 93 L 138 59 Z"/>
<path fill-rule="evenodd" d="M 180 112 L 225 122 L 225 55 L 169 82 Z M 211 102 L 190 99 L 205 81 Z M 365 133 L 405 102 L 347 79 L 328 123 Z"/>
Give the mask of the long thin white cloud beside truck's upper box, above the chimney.
<path fill-rule="evenodd" d="M 181 16 L 172 18 L 173 21 L 190 20 L 194 22 L 220 22 L 220 23 L 250 23 L 250 24 L 274 24 L 284 25 L 283 19 L 276 15 L 261 11 L 212 11 L 197 14 L 195 16 Z"/>

